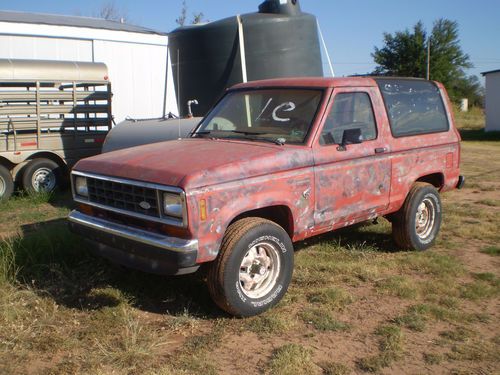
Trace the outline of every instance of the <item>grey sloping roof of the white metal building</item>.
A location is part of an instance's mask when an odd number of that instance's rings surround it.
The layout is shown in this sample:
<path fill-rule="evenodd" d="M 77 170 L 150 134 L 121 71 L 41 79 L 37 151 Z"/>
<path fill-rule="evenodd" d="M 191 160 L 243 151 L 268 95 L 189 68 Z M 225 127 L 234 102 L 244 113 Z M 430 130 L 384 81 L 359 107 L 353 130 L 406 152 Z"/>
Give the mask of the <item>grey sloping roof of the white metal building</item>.
<path fill-rule="evenodd" d="M 102 18 L 62 16 L 43 13 L 7 12 L 0 11 L 0 22 L 32 23 L 41 25 L 88 27 L 91 29 L 107 29 L 115 31 L 128 31 L 143 34 L 167 35 L 142 26 L 135 26 Z"/>

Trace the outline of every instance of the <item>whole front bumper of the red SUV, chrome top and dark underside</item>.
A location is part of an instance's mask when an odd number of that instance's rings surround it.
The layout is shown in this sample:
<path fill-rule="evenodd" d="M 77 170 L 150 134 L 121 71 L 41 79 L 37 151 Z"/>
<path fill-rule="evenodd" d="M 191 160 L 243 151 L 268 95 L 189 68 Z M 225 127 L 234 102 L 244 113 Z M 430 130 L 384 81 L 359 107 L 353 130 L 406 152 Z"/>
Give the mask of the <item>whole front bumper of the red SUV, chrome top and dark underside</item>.
<path fill-rule="evenodd" d="M 72 232 L 94 244 L 91 251 L 114 263 L 141 271 L 180 275 L 195 272 L 198 240 L 186 240 L 125 226 L 72 211 Z"/>

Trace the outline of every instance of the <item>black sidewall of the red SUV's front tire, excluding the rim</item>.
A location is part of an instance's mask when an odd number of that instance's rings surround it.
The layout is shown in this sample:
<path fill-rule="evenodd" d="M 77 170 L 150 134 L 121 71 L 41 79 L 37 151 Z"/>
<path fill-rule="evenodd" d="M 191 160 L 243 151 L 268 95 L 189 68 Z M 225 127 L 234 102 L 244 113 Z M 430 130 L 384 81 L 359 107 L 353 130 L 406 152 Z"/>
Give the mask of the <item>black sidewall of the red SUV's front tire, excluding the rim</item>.
<path fill-rule="evenodd" d="M 239 281 L 240 265 L 246 253 L 259 242 L 269 242 L 279 251 L 281 269 L 276 284 L 265 296 L 253 299 L 242 290 Z M 239 316 L 260 314 L 276 305 L 286 293 L 293 274 L 293 245 L 284 230 L 264 224 L 251 228 L 232 249 L 224 270 L 223 288 L 229 305 Z"/>

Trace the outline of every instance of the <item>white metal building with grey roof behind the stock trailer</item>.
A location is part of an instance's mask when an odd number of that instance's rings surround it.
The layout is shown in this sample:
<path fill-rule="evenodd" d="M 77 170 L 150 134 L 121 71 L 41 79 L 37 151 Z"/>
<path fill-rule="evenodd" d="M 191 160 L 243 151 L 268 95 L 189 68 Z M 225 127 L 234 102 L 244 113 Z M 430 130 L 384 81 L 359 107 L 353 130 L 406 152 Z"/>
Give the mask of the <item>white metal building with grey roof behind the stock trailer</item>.
<path fill-rule="evenodd" d="M 105 63 L 116 123 L 177 113 L 165 33 L 97 18 L 0 11 L 0 58 Z"/>

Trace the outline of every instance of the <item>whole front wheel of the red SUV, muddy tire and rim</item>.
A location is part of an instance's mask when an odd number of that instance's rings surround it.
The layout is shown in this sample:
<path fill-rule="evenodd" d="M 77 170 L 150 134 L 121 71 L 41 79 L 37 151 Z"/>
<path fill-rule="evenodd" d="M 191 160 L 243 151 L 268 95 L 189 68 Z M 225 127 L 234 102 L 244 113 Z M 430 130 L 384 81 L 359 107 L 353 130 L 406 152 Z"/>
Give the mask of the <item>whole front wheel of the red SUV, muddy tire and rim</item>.
<path fill-rule="evenodd" d="M 269 220 L 245 218 L 227 229 L 207 284 L 221 309 L 248 317 L 276 305 L 292 273 L 293 245 L 285 230 Z"/>

